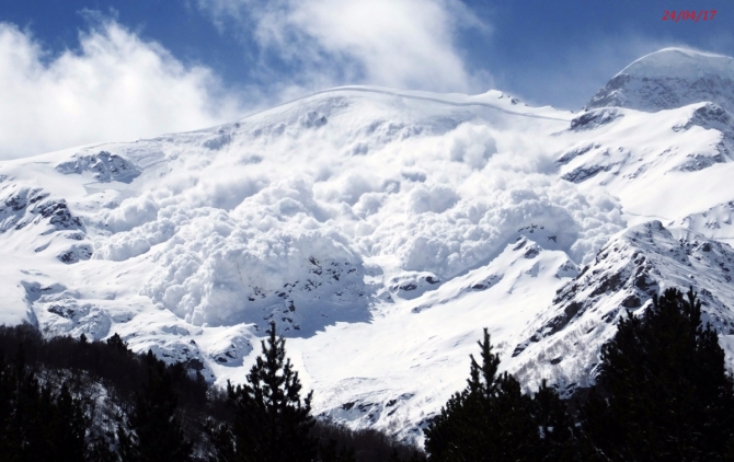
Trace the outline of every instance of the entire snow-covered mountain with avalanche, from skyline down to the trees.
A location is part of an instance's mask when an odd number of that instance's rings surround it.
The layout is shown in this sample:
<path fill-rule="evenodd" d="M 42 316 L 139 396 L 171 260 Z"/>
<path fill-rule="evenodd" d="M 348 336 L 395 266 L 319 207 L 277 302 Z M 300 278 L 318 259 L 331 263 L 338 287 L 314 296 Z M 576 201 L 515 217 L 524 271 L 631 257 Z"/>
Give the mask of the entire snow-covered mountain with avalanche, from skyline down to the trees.
<path fill-rule="evenodd" d="M 581 114 L 351 86 L 210 129 L 0 163 L 0 323 L 241 382 L 269 321 L 318 413 L 405 438 L 483 326 L 525 386 L 593 380 L 692 285 L 734 360 L 732 59 L 643 57 Z"/>

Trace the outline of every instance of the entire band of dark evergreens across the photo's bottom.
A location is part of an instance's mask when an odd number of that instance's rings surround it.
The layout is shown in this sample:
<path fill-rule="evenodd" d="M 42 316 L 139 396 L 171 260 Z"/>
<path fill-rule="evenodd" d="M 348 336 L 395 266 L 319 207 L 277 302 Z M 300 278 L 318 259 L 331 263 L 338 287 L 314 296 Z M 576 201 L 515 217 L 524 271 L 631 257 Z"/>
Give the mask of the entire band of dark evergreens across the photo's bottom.
<path fill-rule="evenodd" d="M 484 330 L 466 388 L 424 429 L 425 452 L 316 418 L 275 324 L 261 347 L 243 382 L 222 390 L 117 335 L 0 327 L 0 461 L 734 460 L 734 380 L 692 289 L 628 312 L 596 384 L 569 400 L 501 372 Z"/>

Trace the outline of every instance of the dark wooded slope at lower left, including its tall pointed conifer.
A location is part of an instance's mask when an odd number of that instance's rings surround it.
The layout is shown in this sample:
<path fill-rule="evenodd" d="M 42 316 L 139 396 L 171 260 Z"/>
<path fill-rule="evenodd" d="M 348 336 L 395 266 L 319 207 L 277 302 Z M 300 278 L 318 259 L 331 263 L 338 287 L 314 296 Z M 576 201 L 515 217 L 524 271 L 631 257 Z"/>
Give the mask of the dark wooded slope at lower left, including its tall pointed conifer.
<path fill-rule="evenodd" d="M 269 333 L 260 376 L 256 366 L 248 384 L 220 390 L 184 365 L 131 353 L 117 335 L 44 339 L 30 325 L 0 326 L 0 461 L 425 459 L 379 431 L 316 420 L 285 340 Z"/>

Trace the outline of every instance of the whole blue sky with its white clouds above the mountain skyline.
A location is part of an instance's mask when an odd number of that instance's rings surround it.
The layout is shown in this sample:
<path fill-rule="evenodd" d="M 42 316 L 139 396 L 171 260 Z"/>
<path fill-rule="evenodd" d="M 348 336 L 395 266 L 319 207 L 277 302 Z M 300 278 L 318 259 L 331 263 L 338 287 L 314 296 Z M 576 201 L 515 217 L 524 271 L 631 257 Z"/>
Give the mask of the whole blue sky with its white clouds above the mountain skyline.
<path fill-rule="evenodd" d="M 713 21 L 663 21 L 666 10 Z M 666 46 L 734 56 L 726 0 L 3 0 L 0 158 L 202 128 L 323 88 L 578 109 Z"/>

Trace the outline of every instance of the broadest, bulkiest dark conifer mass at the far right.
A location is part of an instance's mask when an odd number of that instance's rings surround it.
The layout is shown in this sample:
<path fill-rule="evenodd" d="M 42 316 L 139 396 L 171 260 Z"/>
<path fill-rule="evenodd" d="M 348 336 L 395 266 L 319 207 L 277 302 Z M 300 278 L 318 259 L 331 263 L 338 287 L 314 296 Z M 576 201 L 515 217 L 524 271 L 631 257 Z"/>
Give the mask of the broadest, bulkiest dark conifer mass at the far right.
<path fill-rule="evenodd" d="M 587 459 L 725 460 L 734 382 L 692 288 L 654 297 L 644 316 L 628 312 L 601 348 L 597 384 L 583 409 Z"/>

